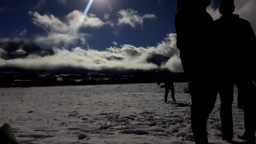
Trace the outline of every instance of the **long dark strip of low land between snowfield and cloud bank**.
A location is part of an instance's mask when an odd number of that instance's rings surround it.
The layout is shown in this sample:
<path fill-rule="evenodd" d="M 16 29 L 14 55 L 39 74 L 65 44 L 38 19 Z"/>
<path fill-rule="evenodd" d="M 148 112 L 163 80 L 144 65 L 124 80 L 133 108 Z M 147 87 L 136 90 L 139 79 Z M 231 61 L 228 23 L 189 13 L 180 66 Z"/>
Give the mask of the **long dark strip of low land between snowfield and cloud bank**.
<path fill-rule="evenodd" d="M 126 83 L 156 83 L 160 69 L 117 70 L 105 69 L 91 71 L 79 68 L 60 69 L 21 69 L 0 67 L 1 87 L 63 86 L 63 85 L 101 85 Z M 176 83 L 187 82 L 184 73 L 173 73 Z"/>

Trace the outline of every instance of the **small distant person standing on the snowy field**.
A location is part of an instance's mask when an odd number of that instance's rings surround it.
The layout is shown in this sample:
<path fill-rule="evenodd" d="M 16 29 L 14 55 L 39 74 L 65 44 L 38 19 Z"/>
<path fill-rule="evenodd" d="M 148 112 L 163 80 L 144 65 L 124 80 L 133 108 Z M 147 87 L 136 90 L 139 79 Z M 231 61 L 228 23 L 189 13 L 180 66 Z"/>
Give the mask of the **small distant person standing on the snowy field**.
<path fill-rule="evenodd" d="M 164 85 L 161 85 L 160 87 L 165 88 L 165 102 L 167 102 L 167 97 L 170 90 L 171 98 L 173 99 L 174 102 L 176 102 L 172 72 L 165 69 L 162 72 L 158 73 L 157 85 L 159 86 L 160 83 L 164 83 Z"/>

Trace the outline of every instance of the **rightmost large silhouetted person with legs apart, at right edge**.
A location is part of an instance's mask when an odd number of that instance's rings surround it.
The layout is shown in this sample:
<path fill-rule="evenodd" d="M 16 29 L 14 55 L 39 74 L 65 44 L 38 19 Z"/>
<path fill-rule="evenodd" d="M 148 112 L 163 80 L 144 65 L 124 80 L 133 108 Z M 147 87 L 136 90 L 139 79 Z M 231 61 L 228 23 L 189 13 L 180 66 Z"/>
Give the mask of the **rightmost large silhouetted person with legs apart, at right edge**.
<path fill-rule="evenodd" d="M 221 56 L 221 131 L 222 139 L 233 138 L 232 102 L 234 84 L 239 91 L 240 106 L 245 116 L 245 135 L 248 144 L 255 144 L 256 132 L 256 88 L 250 70 L 255 68 L 256 37 L 251 24 L 233 14 L 234 0 L 221 0 L 221 18 L 216 20 Z"/>

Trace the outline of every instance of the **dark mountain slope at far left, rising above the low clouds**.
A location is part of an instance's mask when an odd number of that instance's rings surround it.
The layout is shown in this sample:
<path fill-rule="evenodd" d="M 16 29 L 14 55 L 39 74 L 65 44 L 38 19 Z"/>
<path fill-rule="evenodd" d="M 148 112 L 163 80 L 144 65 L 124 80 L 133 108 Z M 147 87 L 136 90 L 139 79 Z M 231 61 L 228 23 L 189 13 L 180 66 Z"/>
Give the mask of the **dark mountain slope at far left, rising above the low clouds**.
<path fill-rule="evenodd" d="M 31 54 L 39 56 L 53 55 L 53 50 L 40 48 L 29 41 L 0 41 L 0 57 L 3 59 L 26 58 Z"/>

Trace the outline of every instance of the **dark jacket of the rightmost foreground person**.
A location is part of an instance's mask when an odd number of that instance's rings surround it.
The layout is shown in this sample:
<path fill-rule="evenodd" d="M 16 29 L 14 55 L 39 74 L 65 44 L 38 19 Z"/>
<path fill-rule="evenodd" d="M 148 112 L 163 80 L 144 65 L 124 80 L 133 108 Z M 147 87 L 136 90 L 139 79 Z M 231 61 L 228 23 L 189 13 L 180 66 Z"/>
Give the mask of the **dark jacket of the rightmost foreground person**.
<path fill-rule="evenodd" d="M 256 37 L 251 24 L 239 15 L 215 21 L 222 69 L 245 72 L 256 65 Z"/>

